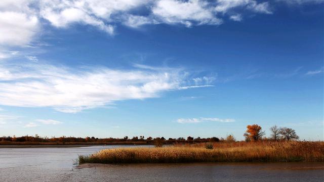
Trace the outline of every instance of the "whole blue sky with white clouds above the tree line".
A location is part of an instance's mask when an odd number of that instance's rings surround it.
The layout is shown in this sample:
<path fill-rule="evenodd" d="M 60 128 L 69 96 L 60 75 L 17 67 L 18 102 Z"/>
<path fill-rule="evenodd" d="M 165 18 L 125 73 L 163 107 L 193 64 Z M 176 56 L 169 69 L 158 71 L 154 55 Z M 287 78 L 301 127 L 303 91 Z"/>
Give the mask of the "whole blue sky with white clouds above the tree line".
<path fill-rule="evenodd" d="M 0 1 L 0 135 L 324 140 L 323 0 Z"/>

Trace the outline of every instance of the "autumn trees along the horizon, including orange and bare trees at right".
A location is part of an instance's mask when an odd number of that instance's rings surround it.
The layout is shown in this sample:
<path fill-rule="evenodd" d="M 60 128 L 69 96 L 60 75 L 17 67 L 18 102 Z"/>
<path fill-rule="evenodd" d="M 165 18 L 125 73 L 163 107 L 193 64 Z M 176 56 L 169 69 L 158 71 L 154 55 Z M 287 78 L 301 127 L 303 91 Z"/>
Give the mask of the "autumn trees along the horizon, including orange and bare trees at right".
<path fill-rule="evenodd" d="M 262 127 L 258 124 L 252 124 L 247 126 L 247 130 L 244 133 L 245 141 L 246 142 L 257 142 L 261 140 L 266 141 L 282 141 L 282 140 L 298 140 L 299 136 L 296 134 L 296 131 L 292 128 L 287 127 L 278 127 L 278 126 L 272 126 L 270 128 L 270 137 L 265 137 L 265 131 L 262 130 Z M 73 136 L 60 136 L 55 137 L 52 136 L 51 138 L 48 138 L 47 136 L 41 137 L 39 135 L 35 136 L 3 136 L 0 137 L 0 144 L 4 144 L 7 142 L 13 142 L 13 143 L 57 143 L 57 144 L 73 144 L 73 143 L 92 143 L 92 144 L 109 144 L 109 143 L 120 143 L 120 144 L 176 144 L 176 143 L 207 143 L 207 142 L 235 142 L 236 139 L 233 134 L 229 134 L 226 136 L 226 138 L 193 138 L 192 136 L 188 136 L 185 138 L 169 138 L 165 139 L 164 137 L 157 137 L 152 138 L 151 136 L 145 137 L 143 135 L 141 136 L 133 136 L 133 138 L 129 138 L 128 136 L 125 136 L 122 139 L 119 138 L 95 138 L 94 136 L 86 138 L 75 138 Z M 7 143 L 6 143 L 7 144 Z"/>

